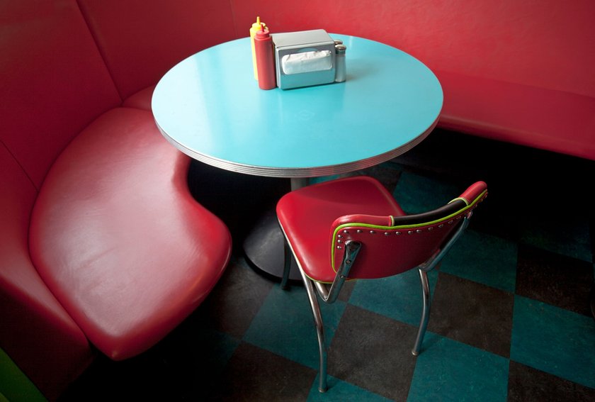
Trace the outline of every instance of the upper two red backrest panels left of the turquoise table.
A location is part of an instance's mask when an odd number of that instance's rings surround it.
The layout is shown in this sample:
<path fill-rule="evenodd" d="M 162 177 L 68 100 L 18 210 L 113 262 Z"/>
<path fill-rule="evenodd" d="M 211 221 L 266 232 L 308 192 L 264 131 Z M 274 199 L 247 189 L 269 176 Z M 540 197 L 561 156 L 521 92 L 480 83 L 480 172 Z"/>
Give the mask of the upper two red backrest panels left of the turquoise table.
<path fill-rule="evenodd" d="M 235 38 L 229 4 L 214 1 L 11 1 L 0 18 L 0 72 L 11 77 L 0 140 L 37 187 L 94 118 Z"/>

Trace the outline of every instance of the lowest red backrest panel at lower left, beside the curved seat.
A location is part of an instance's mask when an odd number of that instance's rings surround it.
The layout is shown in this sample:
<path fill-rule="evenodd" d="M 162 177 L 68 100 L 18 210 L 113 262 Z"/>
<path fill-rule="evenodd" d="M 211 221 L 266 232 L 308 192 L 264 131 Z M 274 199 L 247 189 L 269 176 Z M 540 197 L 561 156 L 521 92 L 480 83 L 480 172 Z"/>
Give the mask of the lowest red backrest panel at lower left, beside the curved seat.
<path fill-rule="evenodd" d="M 0 347 L 53 399 L 94 355 L 29 258 L 37 191 L 2 143 L 0 191 Z"/>

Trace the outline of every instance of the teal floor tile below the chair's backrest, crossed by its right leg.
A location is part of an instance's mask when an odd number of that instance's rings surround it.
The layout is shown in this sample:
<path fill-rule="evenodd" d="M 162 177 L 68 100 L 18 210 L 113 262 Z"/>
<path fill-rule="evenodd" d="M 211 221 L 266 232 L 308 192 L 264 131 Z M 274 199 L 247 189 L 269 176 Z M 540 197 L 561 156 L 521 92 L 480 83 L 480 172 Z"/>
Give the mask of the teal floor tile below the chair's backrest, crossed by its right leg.
<path fill-rule="evenodd" d="M 430 296 L 438 271 L 429 272 Z M 349 303 L 410 325 L 419 325 L 423 296 L 419 271 L 411 269 L 394 277 L 357 281 Z"/>

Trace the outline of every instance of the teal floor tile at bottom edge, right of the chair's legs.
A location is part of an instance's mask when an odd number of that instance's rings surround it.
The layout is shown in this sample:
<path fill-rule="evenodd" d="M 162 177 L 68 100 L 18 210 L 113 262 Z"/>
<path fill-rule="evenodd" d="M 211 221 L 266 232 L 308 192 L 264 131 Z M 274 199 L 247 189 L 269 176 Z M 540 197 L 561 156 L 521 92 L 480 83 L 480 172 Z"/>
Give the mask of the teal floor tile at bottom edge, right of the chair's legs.
<path fill-rule="evenodd" d="M 433 333 L 417 357 L 407 402 L 506 401 L 508 359 Z"/>

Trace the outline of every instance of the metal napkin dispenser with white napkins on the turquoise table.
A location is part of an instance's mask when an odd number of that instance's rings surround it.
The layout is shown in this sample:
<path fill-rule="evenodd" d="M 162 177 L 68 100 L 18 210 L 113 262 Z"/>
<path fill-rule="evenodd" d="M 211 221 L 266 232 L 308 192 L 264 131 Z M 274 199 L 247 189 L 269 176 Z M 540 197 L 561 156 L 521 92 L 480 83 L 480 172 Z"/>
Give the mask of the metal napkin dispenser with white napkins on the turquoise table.
<path fill-rule="evenodd" d="M 326 30 L 273 33 L 271 36 L 280 89 L 334 82 L 334 40 Z"/>

